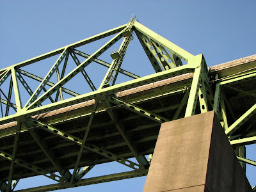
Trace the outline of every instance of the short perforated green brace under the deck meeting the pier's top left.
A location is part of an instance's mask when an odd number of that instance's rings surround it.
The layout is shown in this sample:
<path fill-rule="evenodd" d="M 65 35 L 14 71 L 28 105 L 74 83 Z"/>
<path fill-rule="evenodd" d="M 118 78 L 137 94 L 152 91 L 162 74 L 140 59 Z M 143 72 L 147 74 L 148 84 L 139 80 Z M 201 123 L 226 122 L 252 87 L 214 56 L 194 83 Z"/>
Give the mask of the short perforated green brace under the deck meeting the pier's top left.
<path fill-rule="evenodd" d="M 163 123 L 163 122 L 169 122 L 170 121 L 167 118 L 164 118 L 163 116 L 152 113 L 152 112 L 150 112 L 148 110 L 145 110 L 143 108 L 140 108 L 140 107 L 138 107 L 134 104 L 127 103 L 127 102 L 125 102 L 125 100 L 118 99 L 117 97 L 109 96 L 108 100 L 109 100 L 109 102 L 112 102 L 113 104 L 121 106 L 121 107 L 123 107 L 125 109 L 128 109 L 129 111 L 132 111 L 134 113 L 137 113 L 141 116 L 145 116 L 147 118 L 150 118 L 151 120 L 159 122 L 160 124 Z"/>

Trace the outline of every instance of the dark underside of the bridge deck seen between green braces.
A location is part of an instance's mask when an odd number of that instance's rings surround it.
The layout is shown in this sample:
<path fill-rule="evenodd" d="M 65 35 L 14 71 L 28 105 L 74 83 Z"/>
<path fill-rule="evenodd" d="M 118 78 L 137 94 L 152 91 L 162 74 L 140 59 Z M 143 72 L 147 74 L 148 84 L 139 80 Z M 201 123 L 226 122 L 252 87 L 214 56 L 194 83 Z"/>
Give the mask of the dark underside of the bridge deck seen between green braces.
<path fill-rule="evenodd" d="M 256 61 L 243 63 L 241 65 L 239 64 L 239 70 L 242 70 L 241 67 L 243 66 L 244 70 L 246 70 L 248 66 L 252 67 L 252 65 L 255 65 L 255 62 Z M 230 73 L 234 74 L 237 66 L 238 65 L 235 67 L 235 65 L 230 65 L 229 63 L 226 65 L 226 68 L 223 68 L 223 66 L 212 67 L 211 74 L 212 76 L 220 74 L 220 78 L 225 77 L 230 75 Z M 139 88 L 120 92 L 117 96 L 127 103 L 136 104 L 136 106 L 139 106 L 140 108 L 172 120 L 180 102 L 189 90 L 189 86 L 191 86 L 192 79 L 193 74 L 185 74 L 183 76 L 173 77 L 172 79 L 166 79 L 154 84 L 147 84 Z M 209 84 L 214 88 L 214 82 L 210 82 Z M 231 125 L 234 122 L 231 113 L 234 114 L 237 119 L 256 103 L 256 83 L 254 79 L 249 79 L 228 86 L 250 93 L 244 94 L 243 92 L 237 92 L 228 87 L 223 88 L 229 102 L 229 106 L 226 106 L 226 108 L 228 124 Z M 76 104 L 75 106 L 34 116 L 34 118 L 38 118 L 38 120 L 45 124 L 53 125 L 56 129 L 68 132 L 83 140 L 84 132 L 90 119 L 90 111 L 92 111 L 94 102 L 94 100 L 90 100 L 81 104 Z M 112 109 L 118 116 L 118 122 L 124 125 L 125 132 L 129 138 L 131 138 L 134 146 L 139 149 L 138 152 L 143 155 L 152 154 L 156 145 L 161 123 L 125 109 L 122 107 L 122 104 L 113 104 Z M 179 118 L 184 117 L 185 111 L 186 104 L 184 104 Z M 199 104 L 196 108 L 196 113 L 200 113 Z M 242 125 L 241 129 L 238 129 L 235 132 L 235 134 L 244 134 L 244 132 L 246 132 L 246 127 L 254 124 L 255 117 L 256 116 L 253 115 L 250 120 Z M 3 136 L 8 132 L 15 131 L 16 126 L 15 122 L 3 125 L 0 129 L 0 135 Z M 253 125 L 248 134 L 255 136 L 255 132 L 256 127 Z M 77 145 L 77 143 L 65 140 L 56 134 L 40 129 L 40 127 L 38 127 L 38 134 L 40 134 L 42 140 L 49 145 L 49 148 L 52 149 L 57 159 L 60 160 L 62 168 L 74 168 L 77 154 L 80 150 L 80 146 Z M 10 134 L 9 136 L 1 138 L 1 150 L 12 154 L 14 138 L 15 134 Z M 126 159 L 134 157 L 101 102 L 97 107 L 97 113 L 93 119 L 87 143 L 97 145 L 97 147 L 104 148 L 109 152 L 125 157 Z M 20 133 L 19 147 L 17 149 L 16 157 L 31 164 L 35 164 L 49 172 L 57 172 L 28 131 Z M 107 163 L 109 161 L 112 160 L 84 148 L 79 167 Z M 9 171 L 10 161 L 0 158 L 0 177 L 3 178 L 3 180 L 8 180 Z M 35 175 L 37 175 L 37 173 L 19 166 L 18 164 L 15 165 L 13 179 L 21 179 Z"/>

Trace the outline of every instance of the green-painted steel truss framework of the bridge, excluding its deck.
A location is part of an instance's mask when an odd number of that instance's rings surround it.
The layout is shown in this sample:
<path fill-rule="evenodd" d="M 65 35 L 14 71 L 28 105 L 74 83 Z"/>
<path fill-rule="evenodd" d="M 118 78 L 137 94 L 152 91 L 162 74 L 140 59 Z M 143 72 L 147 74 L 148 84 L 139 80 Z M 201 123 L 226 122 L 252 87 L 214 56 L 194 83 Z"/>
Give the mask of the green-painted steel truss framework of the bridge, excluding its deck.
<path fill-rule="evenodd" d="M 129 43 L 134 38 L 134 33 L 140 40 L 140 43 L 148 56 L 148 60 L 156 71 L 155 74 L 140 77 L 121 68 L 125 52 L 127 50 L 127 47 L 129 46 Z M 91 55 L 77 50 L 77 48 L 81 47 L 82 45 L 90 44 L 91 42 L 110 35 L 114 36 L 106 44 L 102 45 L 102 47 L 100 47 Z M 121 38 L 123 38 L 123 42 L 120 45 L 120 48 L 117 51 L 111 53 L 111 56 L 113 58 L 112 63 L 107 63 L 106 61 L 102 61 L 98 58 L 104 51 L 109 49 Z M 45 77 L 35 76 L 34 74 L 26 72 L 22 69 L 22 67 L 31 65 L 37 61 L 44 60 L 57 54 L 60 54 L 58 60 L 56 60 L 54 65 L 52 65 L 51 69 L 49 69 L 49 72 Z M 76 67 L 67 75 L 65 75 L 65 68 L 67 67 L 69 56 L 76 63 Z M 77 56 L 81 56 L 85 60 L 79 61 Z M 187 64 L 182 63 L 182 60 L 185 61 Z M 100 84 L 100 87 L 98 89 L 95 88 L 95 85 L 86 73 L 86 67 L 92 62 L 98 63 L 99 65 L 102 65 L 104 67 L 108 67 L 108 72 L 104 76 L 104 79 L 102 79 L 102 83 Z M 61 63 L 63 63 L 62 70 L 60 68 Z M 55 73 L 58 82 L 52 83 L 50 79 Z M 65 84 L 68 83 L 68 81 L 70 81 L 72 78 L 74 78 L 74 76 L 79 73 L 83 75 L 84 79 L 92 89 L 92 92 L 79 95 L 78 93 L 65 88 Z M 132 80 L 125 83 L 115 84 L 118 73 L 131 77 Z M 116 96 L 116 93 L 122 92 L 124 90 L 129 90 L 130 88 L 136 88 L 145 84 L 154 83 L 159 80 L 164 80 L 170 77 L 176 77 L 188 73 L 193 73 L 193 80 L 192 83 L 189 84 L 189 86 L 185 86 L 184 88 L 179 90 L 174 90 L 168 93 L 161 93 L 154 96 L 164 97 L 164 95 L 168 94 L 175 95 L 175 93 L 177 92 L 185 92 L 180 104 L 177 104 L 177 106 L 170 106 L 170 108 L 176 109 L 175 115 L 172 119 L 165 118 L 164 116 L 158 115 L 157 112 L 148 111 L 147 109 L 143 109 L 137 106 L 136 102 L 138 101 L 126 102 L 125 100 L 122 100 Z M 6 82 L 6 79 L 8 79 L 8 77 L 11 78 L 8 94 L 4 94 L 2 90 L 0 94 L 1 114 L 3 116 L 2 118 L 0 118 L 0 124 L 17 122 L 19 124 L 19 126 L 17 127 L 19 128 L 14 131 L 6 131 L 4 134 L 0 135 L 1 138 L 4 138 L 6 136 L 10 136 L 11 134 L 15 134 L 15 143 L 12 154 L 8 154 L 4 152 L 4 150 L 0 149 L 0 156 L 8 159 L 8 161 L 11 161 L 8 180 L 1 180 L 1 191 L 13 191 L 15 186 L 17 185 L 18 181 L 12 179 L 13 170 L 15 170 L 15 164 L 24 166 L 25 168 L 28 168 L 35 173 L 38 173 L 38 175 L 44 175 L 45 177 L 59 182 L 58 184 L 24 189 L 20 191 L 51 191 L 56 189 L 72 188 L 89 184 L 97 184 L 100 182 L 109 182 L 112 180 L 129 179 L 132 177 L 147 175 L 152 155 L 150 154 L 150 157 L 147 160 L 145 156 L 138 152 L 138 148 L 134 146 L 131 138 L 129 138 L 129 134 L 127 134 L 127 131 L 125 131 L 125 125 L 122 124 L 122 122 L 118 121 L 118 117 L 116 116 L 115 111 L 112 109 L 113 106 L 119 106 L 121 108 L 132 111 L 136 115 L 148 118 L 155 122 L 155 124 L 159 125 L 163 122 L 168 122 L 177 118 L 195 115 L 198 105 L 200 106 L 200 113 L 205 113 L 214 109 L 218 117 L 221 119 L 221 125 L 223 125 L 223 128 L 225 129 L 225 132 L 230 139 L 230 144 L 234 145 L 234 147 L 239 148 L 239 152 L 237 152 L 238 160 L 242 163 L 249 163 L 255 165 L 254 161 L 245 158 L 245 152 L 243 150 L 244 145 L 256 143 L 255 136 L 250 136 L 246 138 L 239 137 L 239 139 L 237 139 L 237 137 L 234 137 L 233 133 L 236 132 L 237 129 L 239 129 L 241 125 L 253 115 L 256 109 L 256 104 L 252 106 L 251 109 L 246 111 L 246 113 L 244 113 L 244 115 L 242 115 L 240 118 L 235 119 L 234 124 L 228 125 L 227 112 L 225 108 L 225 106 L 228 106 L 228 104 L 225 100 L 225 92 L 223 92 L 225 88 L 230 88 L 228 86 L 231 86 L 232 84 L 240 81 L 247 81 L 248 79 L 255 77 L 255 75 L 256 73 L 254 71 L 249 71 L 238 74 L 237 76 L 227 77 L 224 79 L 218 79 L 218 77 L 216 77 L 216 85 L 213 84 L 214 86 L 212 86 L 212 83 L 210 81 L 210 73 L 205 63 L 204 56 L 202 54 L 193 56 L 189 52 L 181 49 L 177 45 L 173 44 L 172 42 L 166 40 L 154 31 L 151 31 L 150 29 L 140 24 L 140 22 L 138 22 L 138 20 L 134 16 L 131 18 L 131 20 L 129 20 L 127 24 L 124 24 L 117 28 L 110 29 L 109 31 L 105 31 L 103 33 L 100 33 L 99 35 L 86 38 L 74 44 L 61 47 L 60 49 L 56 49 L 46 54 L 42 54 L 41 56 L 37 56 L 30 60 L 4 68 L 0 70 L 0 90 L 1 85 Z M 31 90 L 31 88 L 29 87 L 29 83 L 25 81 L 23 76 L 26 76 L 33 81 L 40 82 L 39 86 L 36 88 L 35 91 Z M 19 91 L 19 84 L 22 84 L 22 86 L 24 86 L 30 96 L 24 106 L 22 106 L 21 102 L 22 93 L 20 93 Z M 11 99 L 13 97 L 12 92 L 14 93 L 15 103 L 11 102 Z M 55 98 L 53 97 L 54 93 L 56 93 Z M 72 97 L 69 99 L 65 99 L 63 93 L 67 93 Z M 241 91 L 240 93 L 243 93 L 243 91 Z M 51 104 L 44 105 L 43 102 L 47 99 L 51 100 Z M 31 118 L 31 116 L 34 115 L 40 115 L 54 109 L 72 106 L 73 104 L 78 104 L 80 102 L 92 99 L 95 100 L 92 111 L 83 114 L 83 116 L 90 116 L 89 123 L 84 128 L 86 131 L 83 139 L 77 138 L 76 136 L 68 132 L 57 129 L 56 127 L 54 127 L 54 123 L 45 124 L 40 120 Z M 139 100 L 140 102 L 142 102 L 143 98 Z M 100 109 L 98 108 L 99 102 L 102 103 L 102 108 Z M 3 106 L 6 106 L 6 108 L 3 108 Z M 16 111 L 12 115 L 9 115 L 10 108 L 13 108 L 13 110 Z M 184 108 L 186 108 L 185 115 L 180 117 L 180 112 Z M 96 145 L 92 145 L 89 141 L 87 141 L 94 116 L 101 111 L 106 111 L 108 113 L 111 120 L 114 122 L 116 129 L 124 139 L 125 144 L 127 145 L 127 147 L 129 147 L 131 153 L 133 154 L 136 161 L 138 161 L 138 163 L 134 163 L 128 159 L 125 159 L 124 157 L 117 156 L 116 154 L 109 152 L 109 150 L 107 150 L 106 148 L 97 147 Z M 80 117 L 81 114 L 78 114 L 76 117 L 72 118 Z M 54 152 L 51 150 L 51 148 L 49 148 L 47 143 L 42 140 L 40 134 L 38 134 L 38 129 L 50 132 L 55 136 L 63 138 L 63 140 L 70 141 L 71 143 L 76 143 L 76 145 L 80 147 L 79 154 L 77 155 L 77 161 L 74 165 L 73 173 L 71 173 L 70 170 L 62 168 L 60 166 L 60 162 L 56 161 L 56 154 L 54 154 Z M 60 173 L 60 176 L 51 173 L 48 170 L 39 168 L 35 164 L 31 164 L 15 157 L 17 147 L 19 146 L 19 134 L 22 131 L 28 131 L 29 134 L 31 134 L 38 146 L 44 152 L 45 156 L 47 156 L 54 168 L 56 168 L 56 171 Z M 145 138 L 145 140 L 147 140 L 147 138 Z M 93 166 L 97 166 L 90 165 L 84 168 L 79 167 L 79 162 L 81 159 L 81 155 L 83 154 L 84 148 L 86 150 L 90 150 L 92 152 L 100 154 L 100 156 L 107 157 L 109 161 L 116 161 L 117 163 L 132 168 L 133 171 L 83 179 L 84 175 L 92 170 Z"/>

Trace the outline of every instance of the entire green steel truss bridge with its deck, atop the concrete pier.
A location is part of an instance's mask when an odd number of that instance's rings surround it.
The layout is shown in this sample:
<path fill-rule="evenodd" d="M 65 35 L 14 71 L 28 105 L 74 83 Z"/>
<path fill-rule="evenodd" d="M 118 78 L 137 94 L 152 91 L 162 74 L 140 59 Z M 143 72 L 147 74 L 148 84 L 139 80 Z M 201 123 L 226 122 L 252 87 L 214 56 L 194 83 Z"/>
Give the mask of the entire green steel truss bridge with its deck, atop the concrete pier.
<path fill-rule="evenodd" d="M 140 77 L 121 68 L 135 35 L 156 73 Z M 108 36 L 93 54 L 77 49 Z M 101 60 L 118 40 L 120 47 L 110 53 L 112 62 Z M 26 70 L 54 56 L 58 59 L 45 76 Z M 67 72 L 70 61 L 76 65 Z M 107 72 L 96 88 L 87 68 L 98 64 Z M 131 80 L 116 83 L 118 74 Z M 84 83 L 72 82 L 77 75 Z M 160 125 L 211 110 L 245 171 L 246 163 L 256 166 L 246 159 L 244 147 L 256 143 L 255 77 L 256 55 L 208 68 L 202 54 L 184 51 L 134 16 L 117 28 L 4 68 L 1 191 L 52 191 L 147 175 Z M 70 82 L 81 86 L 81 92 L 87 83 L 91 91 L 76 93 L 67 88 Z M 94 166 L 113 161 L 131 171 L 84 179 Z M 36 175 L 56 184 L 15 190 L 20 179 Z"/>

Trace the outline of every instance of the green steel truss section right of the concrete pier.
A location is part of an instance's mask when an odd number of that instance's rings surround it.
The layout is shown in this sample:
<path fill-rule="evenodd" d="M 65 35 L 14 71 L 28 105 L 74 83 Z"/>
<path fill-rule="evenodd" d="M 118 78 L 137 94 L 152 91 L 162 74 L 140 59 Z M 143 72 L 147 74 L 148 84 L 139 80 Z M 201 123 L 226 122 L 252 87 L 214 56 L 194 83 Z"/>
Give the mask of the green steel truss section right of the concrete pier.
<path fill-rule="evenodd" d="M 255 134 L 248 136 L 248 131 L 255 125 L 250 118 L 255 114 L 255 102 L 251 104 L 250 108 L 242 109 L 242 114 L 236 115 L 232 109 L 230 100 L 227 99 L 229 92 L 236 92 L 246 99 L 251 100 L 255 97 L 253 93 L 246 90 L 243 83 L 250 82 L 256 77 L 254 68 L 237 72 L 228 77 L 219 78 L 216 76 L 216 88 L 214 95 L 214 110 L 220 118 L 221 125 L 230 140 L 230 144 L 234 147 L 237 159 L 240 161 L 242 168 L 245 172 L 245 164 L 253 164 L 254 161 L 246 159 L 245 145 L 255 143 Z M 237 84 L 239 84 L 237 86 Z M 242 85 L 240 85 L 242 84 Z M 239 87 L 239 88 L 237 88 Z M 244 89 L 244 90 L 241 90 Z M 249 123 L 248 123 L 249 122 Z"/>

